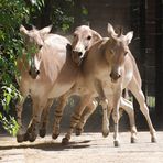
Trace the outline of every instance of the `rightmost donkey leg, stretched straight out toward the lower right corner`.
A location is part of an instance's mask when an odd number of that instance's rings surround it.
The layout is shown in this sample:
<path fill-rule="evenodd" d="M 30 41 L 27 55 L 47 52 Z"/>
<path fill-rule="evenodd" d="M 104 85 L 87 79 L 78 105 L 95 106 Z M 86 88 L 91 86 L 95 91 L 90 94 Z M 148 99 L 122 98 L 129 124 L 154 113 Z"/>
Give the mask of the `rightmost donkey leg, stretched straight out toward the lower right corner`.
<path fill-rule="evenodd" d="M 139 105 L 140 105 L 140 110 L 141 112 L 144 115 L 149 128 L 150 128 L 150 133 L 151 133 L 151 142 L 156 142 L 156 132 L 153 128 L 151 118 L 150 118 L 150 113 L 149 113 L 149 108 L 145 104 L 145 98 L 143 95 L 143 91 L 141 90 L 141 88 L 139 87 L 139 85 L 133 80 L 132 85 L 130 86 L 130 90 L 131 93 L 134 95 L 134 97 L 137 98 Z"/>

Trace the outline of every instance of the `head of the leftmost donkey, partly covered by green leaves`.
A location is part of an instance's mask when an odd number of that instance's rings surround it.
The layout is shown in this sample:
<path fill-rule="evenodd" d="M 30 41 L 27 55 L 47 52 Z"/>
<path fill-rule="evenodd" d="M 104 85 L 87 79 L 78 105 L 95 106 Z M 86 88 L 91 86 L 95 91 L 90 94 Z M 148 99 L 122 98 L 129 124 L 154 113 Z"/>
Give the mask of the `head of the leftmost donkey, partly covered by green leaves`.
<path fill-rule="evenodd" d="M 25 54 L 28 55 L 29 63 L 29 75 L 35 79 L 40 74 L 40 51 L 44 45 L 44 35 L 50 33 L 52 26 L 46 26 L 42 30 L 36 30 L 33 28 L 32 30 L 26 30 L 23 25 L 20 26 L 20 32 L 23 35 Z"/>

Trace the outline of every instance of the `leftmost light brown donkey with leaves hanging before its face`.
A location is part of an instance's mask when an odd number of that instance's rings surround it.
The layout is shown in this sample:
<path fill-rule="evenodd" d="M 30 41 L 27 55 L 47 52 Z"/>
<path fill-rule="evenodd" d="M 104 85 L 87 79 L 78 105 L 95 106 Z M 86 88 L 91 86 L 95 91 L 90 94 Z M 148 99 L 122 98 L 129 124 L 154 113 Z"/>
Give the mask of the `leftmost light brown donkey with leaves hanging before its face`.
<path fill-rule="evenodd" d="M 23 96 L 17 106 L 20 124 L 18 142 L 36 139 L 36 124 L 40 123 L 42 112 L 44 117 L 53 99 L 70 89 L 78 74 L 78 66 L 72 61 L 68 51 L 69 41 L 61 35 L 51 34 L 51 28 L 30 31 L 23 25 L 20 28 L 24 36 L 24 52 L 18 59 L 19 86 Z M 33 101 L 33 115 L 24 133 L 21 113 L 26 96 Z"/>

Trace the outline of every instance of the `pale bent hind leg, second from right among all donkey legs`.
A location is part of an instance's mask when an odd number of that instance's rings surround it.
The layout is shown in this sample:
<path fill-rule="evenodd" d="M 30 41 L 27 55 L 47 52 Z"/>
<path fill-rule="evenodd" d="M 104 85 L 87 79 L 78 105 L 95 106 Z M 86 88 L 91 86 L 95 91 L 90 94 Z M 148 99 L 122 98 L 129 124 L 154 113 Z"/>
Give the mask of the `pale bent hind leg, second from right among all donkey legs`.
<path fill-rule="evenodd" d="M 129 116 L 130 128 L 131 128 L 131 143 L 137 142 L 137 128 L 135 128 L 135 119 L 134 119 L 134 110 L 131 101 L 121 97 L 120 107 L 124 109 Z"/>

